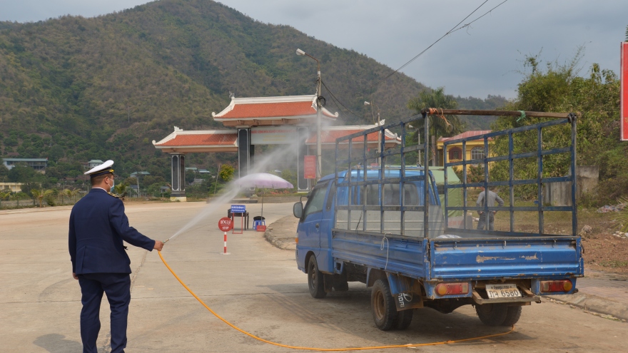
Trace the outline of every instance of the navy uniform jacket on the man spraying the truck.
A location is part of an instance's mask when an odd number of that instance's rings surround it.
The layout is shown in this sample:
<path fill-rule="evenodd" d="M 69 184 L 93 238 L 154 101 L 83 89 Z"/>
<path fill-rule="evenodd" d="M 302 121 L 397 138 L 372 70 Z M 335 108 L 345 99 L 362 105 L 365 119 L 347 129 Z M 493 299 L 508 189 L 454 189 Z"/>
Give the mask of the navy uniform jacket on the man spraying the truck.
<path fill-rule="evenodd" d="M 122 240 L 146 250 L 155 246 L 155 240 L 128 226 L 122 200 L 103 189 L 91 189 L 70 214 L 72 272 L 131 273 Z"/>

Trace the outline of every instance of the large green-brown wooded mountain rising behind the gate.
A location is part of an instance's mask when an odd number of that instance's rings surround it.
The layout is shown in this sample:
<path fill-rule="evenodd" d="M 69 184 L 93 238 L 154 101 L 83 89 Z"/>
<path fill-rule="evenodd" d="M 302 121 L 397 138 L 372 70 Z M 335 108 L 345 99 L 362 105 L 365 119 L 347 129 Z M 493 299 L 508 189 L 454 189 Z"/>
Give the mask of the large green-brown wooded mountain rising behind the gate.
<path fill-rule="evenodd" d="M 238 97 L 323 90 L 340 124 L 371 123 L 363 101 L 382 118 L 410 115 L 405 105 L 425 88 L 352 50 L 290 26 L 264 24 L 209 0 L 162 0 L 96 18 L 62 16 L 0 22 L 0 149 L 5 158 L 49 157 L 47 175 L 75 176 L 78 163 L 116 160 L 116 173 L 148 170 L 169 179 L 168 158 L 151 142 L 174 125 L 221 128 L 211 112 Z M 335 103 L 335 98 L 343 106 Z M 481 101 L 481 100 L 480 100 Z M 235 154 L 191 155 L 211 168 Z"/>

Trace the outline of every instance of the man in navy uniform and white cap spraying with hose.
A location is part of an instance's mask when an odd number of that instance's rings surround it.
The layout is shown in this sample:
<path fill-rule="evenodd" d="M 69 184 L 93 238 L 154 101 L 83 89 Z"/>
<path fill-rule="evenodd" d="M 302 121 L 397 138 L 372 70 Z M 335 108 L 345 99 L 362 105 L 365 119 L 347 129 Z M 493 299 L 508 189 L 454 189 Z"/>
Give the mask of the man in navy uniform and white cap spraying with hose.
<path fill-rule="evenodd" d="M 83 353 L 97 353 L 96 339 L 101 328 L 98 317 L 103 292 L 111 307 L 111 353 L 124 352 L 126 319 L 131 301 L 131 260 L 123 240 L 146 250 L 159 250 L 163 242 L 151 240 L 129 227 L 122 201 L 113 190 L 113 160 L 86 172 L 91 191 L 81 198 L 70 214 L 69 250 L 72 276 L 81 285 L 81 340 Z"/>

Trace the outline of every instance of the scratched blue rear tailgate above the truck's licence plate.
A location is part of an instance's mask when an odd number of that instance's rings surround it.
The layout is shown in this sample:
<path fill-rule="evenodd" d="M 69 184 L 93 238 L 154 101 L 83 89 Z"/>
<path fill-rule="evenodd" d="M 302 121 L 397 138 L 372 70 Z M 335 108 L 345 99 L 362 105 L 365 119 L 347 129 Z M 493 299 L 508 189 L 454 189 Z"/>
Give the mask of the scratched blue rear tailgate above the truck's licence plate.
<path fill-rule="evenodd" d="M 579 237 L 430 240 L 431 280 L 582 277 Z"/>

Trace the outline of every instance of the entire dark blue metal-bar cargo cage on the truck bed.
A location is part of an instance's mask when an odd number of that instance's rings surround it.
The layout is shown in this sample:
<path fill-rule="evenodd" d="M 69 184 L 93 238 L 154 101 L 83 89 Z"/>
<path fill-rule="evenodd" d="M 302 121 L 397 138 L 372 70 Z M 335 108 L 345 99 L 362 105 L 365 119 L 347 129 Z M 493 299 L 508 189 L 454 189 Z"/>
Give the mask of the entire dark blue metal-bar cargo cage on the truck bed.
<path fill-rule="evenodd" d="M 557 120 L 536 123 L 530 126 L 521 126 L 512 128 L 507 131 L 495 131 L 482 135 L 474 135 L 466 138 L 458 138 L 456 140 L 445 140 L 443 142 L 442 166 L 445 170 L 445 183 L 442 185 L 444 193 L 445 205 L 442 209 L 438 206 L 437 190 L 432 188 L 432 174 L 430 173 L 430 156 L 436 158 L 436 151 L 432 151 L 429 143 L 427 132 L 430 130 L 430 116 L 444 115 L 472 115 L 472 116 L 517 116 L 517 117 L 534 117 L 534 118 L 557 118 Z M 410 133 L 410 129 L 414 130 L 410 124 L 423 124 L 423 134 L 419 138 L 416 145 L 406 145 L 406 137 Z M 570 136 L 565 138 L 568 141 L 567 146 L 560 148 L 544 148 L 542 139 L 542 131 L 544 128 L 553 126 L 567 125 Z M 380 143 L 378 145 L 385 146 L 385 131 L 387 129 L 395 129 L 401 131 L 400 144 L 395 148 L 385 150 L 384 148 L 369 150 L 368 142 L 373 140 L 373 135 L 377 135 Z M 567 129 L 566 129 L 567 130 Z M 514 136 L 517 134 L 535 133 L 537 136 L 537 144 L 535 150 L 515 153 L 515 145 L 513 143 Z M 495 138 L 507 138 L 507 154 L 492 155 L 489 150 L 490 141 Z M 483 141 L 483 158 L 468 159 L 467 158 L 467 142 L 471 140 Z M 422 142 L 422 143 L 421 143 Z M 462 160 L 450 162 L 447 161 L 447 154 L 452 145 L 462 143 Z M 433 146 L 436 149 L 436 146 Z M 424 161 L 422 165 L 415 163 L 407 163 L 408 153 L 417 153 L 417 159 Z M 549 155 L 566 154 L 569 159 L 569 173 L 564 176 L 544 177 L 543 157 Z M 536 178 L 522 179 L 515 178 L 515 160 L 522 158 L 537 159 L 537 175 Z M 388 163 L 388 160 L 393 160 Z M 387 123 L 385 125 L 376 126 L 369 130 L 351 135 L 343 136 L 336 139 L 335 143 L 335 185 L 337 188 L 345 188 L 348 193 L 349 200 L 347 205 L 338 205 L 338 195 L 336 193 L 335 219 L 336 229 L 345 232 L 355 232 L 364 234 L 390 234 L 391 236 L 401 237 L 437 237 L 438 235 L 460 235 L 462 237 L 477 237 L 477 230 L 468 227 L 467 218 L 470 218 L 469 211 L 483 211 L 487 214 L 489 211 L 507 211 L 510 213 L 510 230 L 508 231 L 491 231 L 483 230 L 482 236 L 510 236 L 510 237 L 527 237 L 535 235 L 547 235 L 544 231 L 544 213 L 545 212 L 563 212 L 570 213 L 572 216 L 571 235 L 577 233 L 577 207 L 576 207 L 576 116 L 573 113 L 541 113 L 541 112 L 522 112 L 522 111 L 466 111 L 466 110 L 448 110 L 448 109 L 424 109 L 420 116 L 410 116 L 399 121 Z M 373 163 L 375 162 L 375 163 Z M 509 171 L 507 180 L 491 180 L 490 165 L 492 163 L 508 163 Z M 373 164 L 370 164 L 373 163 Z M 467 165 L 481 165 L 484 172 L 484 180 L 478 183 L 467 183 Z M 448 183 L 447 168 L 462 168 L 462 180 L 460 184 L 452 185 Z M 344 177 L 341 170 L 347 170 Z M 408 176 L 407 170 L 420 170 L 422 173 L 412 173 Z M 375 173 L 373 173 L 375 172 Z M 377 178 L 374 178 L 376 175 Z M 342 179 L 342 180 L 340 180 Z M 419 193 L 420 200 L 407 200 L 411 193 L 407 193 L 407 183 L 422 182 L 422 185 L 429 185 L 422 188 L 423 192 Z M 537 186 L 537 205 L 534 206 L 515 206 L 515 187 L 520 185 L 542 185 L 547 183 L 569 183 L 571 186 L 571 205 L 567 206 L 551 206 L 543 204 L 543 188 Z M 509 203 L 505 207 L 476 207 L 475 205 L 467 205 L 467 189 L 485 187 L 505 187 L 510 190 L 507 199 Z M 375 189 L 376 188 L 376 189 Z M 448 190 L 462 189 L 462 206 L 450 206 L 448 199 Z M 384 202 L 383 198 L 385 190 L 390 197 L 391 190 L 398 193 L 395 196 L 394 203 Z M 377 194 L 378 203 L 369 202 L 368 193 Z M 351 200 L 357 200 L 352 203 Z M 427 210 L 427 212 L 426 212 Z M 444 211 L 444 212 L 443 212 Z M 452 229 L 447 227 L 449 224 L 450 211 L 462 212 L 462 228 Z M 515 230 L 515 212 L 528 211 L 538 213 L 538 229 L 537 232 L 521 232 Z M 352 215 L 353 213 L 353 215 Z M 417 219 L 420 218 L 420 219 Z M 346 222 L 346 225 L 343 223 Z M 425 227 L 427 225 L 427 227 Z"/>

